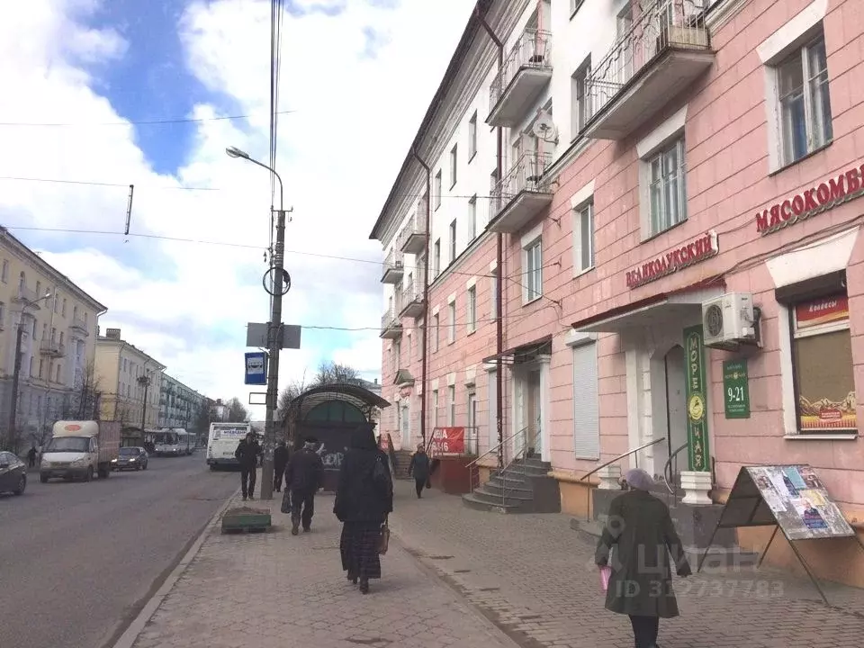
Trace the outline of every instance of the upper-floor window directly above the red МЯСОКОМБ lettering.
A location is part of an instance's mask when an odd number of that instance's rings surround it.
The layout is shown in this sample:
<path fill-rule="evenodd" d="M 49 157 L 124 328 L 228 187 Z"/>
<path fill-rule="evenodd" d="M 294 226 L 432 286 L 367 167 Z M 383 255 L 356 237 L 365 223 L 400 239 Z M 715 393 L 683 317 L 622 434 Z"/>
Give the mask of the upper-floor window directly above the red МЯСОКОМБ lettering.
<path fill-rule="evenodd" d="M 833 138 L 823 35 L 779 64 L 777 86 L 783 163 L 788 165 Z"/>

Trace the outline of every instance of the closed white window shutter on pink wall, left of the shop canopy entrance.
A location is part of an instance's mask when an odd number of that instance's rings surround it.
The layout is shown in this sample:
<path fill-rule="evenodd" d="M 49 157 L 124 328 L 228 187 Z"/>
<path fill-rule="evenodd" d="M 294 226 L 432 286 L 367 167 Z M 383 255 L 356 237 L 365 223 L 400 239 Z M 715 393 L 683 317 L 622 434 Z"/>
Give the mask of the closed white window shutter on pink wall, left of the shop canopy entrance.
<path fill-rule="evenodd" d="M 573 346 L 573 449 L 577 459 L 600 458 L 597 344 Z M 584 344 L 588 342 L 588 344 Z"/>

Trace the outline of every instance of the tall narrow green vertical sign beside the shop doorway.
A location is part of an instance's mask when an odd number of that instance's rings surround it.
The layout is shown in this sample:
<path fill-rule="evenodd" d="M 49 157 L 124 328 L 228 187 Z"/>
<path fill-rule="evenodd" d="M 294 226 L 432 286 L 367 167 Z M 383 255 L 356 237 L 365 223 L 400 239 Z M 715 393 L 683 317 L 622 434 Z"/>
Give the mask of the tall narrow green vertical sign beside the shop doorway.
<path fill-rule="evenodd" d="M 708 412 L 705 384 L 705 347 L 702 325 L 684 329 L 684 354 L 687 376 L 687 441 L 691 471 L 711 470 L 708 454 Z"/>

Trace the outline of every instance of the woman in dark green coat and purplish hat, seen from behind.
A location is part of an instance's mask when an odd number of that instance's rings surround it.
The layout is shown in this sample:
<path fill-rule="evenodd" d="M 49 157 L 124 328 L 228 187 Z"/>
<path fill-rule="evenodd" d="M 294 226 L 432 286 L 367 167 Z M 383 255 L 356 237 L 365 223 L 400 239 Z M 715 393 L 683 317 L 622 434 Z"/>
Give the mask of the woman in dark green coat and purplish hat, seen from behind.
<path fill-rule="evenodd" d="M 649 492 L 651 476 L 631 470 L 625 481 L 633 490 L 612 500 L 595 562 L 612 570 L 606 608 L 630 617 L 636 648 L 656 648 L 660 619 L 679 614 L 669 555 L 679 576 L 689 576 L 690 565 L 669 508 Z"/>

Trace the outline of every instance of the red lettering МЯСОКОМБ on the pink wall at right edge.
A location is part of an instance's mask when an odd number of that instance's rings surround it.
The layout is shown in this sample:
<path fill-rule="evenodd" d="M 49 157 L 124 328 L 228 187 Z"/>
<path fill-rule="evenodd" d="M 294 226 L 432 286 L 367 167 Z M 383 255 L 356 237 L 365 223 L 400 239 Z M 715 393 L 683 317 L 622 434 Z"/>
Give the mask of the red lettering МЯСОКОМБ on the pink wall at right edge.
<path fill-rule="evenodd" d="M 757 212 L 756 231 L 760 234 L 770 234 L 787 225 L 805 220 L 864 193 L 864 166 L 851 168 L 837 177 L 831 178 L 818 186 L 806 189 L 801 193 L 776 202 L 768 209 Z"/>

